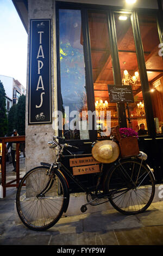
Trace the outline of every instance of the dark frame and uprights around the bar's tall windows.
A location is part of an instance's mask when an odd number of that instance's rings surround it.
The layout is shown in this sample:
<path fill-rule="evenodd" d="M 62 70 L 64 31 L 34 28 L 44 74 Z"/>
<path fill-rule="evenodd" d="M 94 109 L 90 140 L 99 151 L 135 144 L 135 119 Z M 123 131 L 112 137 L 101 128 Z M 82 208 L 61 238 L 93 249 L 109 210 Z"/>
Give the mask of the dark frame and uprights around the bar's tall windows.
<path fill-rule="evenodd" d="M 122 8 L 117 8 L 110 5 L 95 5 L 95 4 L 82 4 L 82 3 L 70 3 L 70 2 L 58 2 L 55 3 L 55 11 L 56 11 L 56 33 L 57 33 L 57 92 L 58 92 L 58 110 L 61 110 L 61 87 L 60 87 L 60 53 L 59 53 L 59 9 L 78 9 L 81 11 L 82 18 L 82 29 L 83 29 L 83 50 L 84 50 L 84 61 L 85 61 L 85 80 L 86 80 L 86 93 L 87 99 L 94 99 L 94 90 L 93 90 L 93 78 L 92 78 L 92 62 L 91 62 L 91 47 L 90 47 L 90 34 L 89 34 L 89 22 L 88 22 L 88 12 L 102 12 L 105 13 L 108 17 L 108 32 L 109 32 L 109 41 L 111 48 L 111 56 L 112 56 L 112 66 L 113 66 L 113 75 L 114 75 L 114 84 L 121 85 L 121 70 L 120 63 L 118 58 L 118 49 L 117 49 L 117 39 L 116 39 L 116 28 L 115 28 L 115 13 L 123 13 L 126 12 L 133 16 L 131 20 L 131 26 L 133 28 L 134 41 L 135 41 L 135 49 L 137 55 L 137 62 L 140 70 L 140 78 L 142 84 L 143 96 L 145 96 L 144 102 L 146 106 L 146 120 L 147 127 L 149 130 L 149 135 L 143 136 L 143 138 L 154 138 L 156 136 L 160 136 L 156 134 L 154 117 L 153 117 L 153 109 L 152 109 L 152 99 L 149 92 L 149 84 L 146 72 L 146 64 L 145 57 L 143 54 L 143 46 L 139 28 L 139 19 L 137 13 L 145 13 L 154 15 L 157 20 L 158 25 L 158 33 L 160 38 L 160 43 L 162 43 L 162 23 L 160 21 L 159 9 L 141 9 L 134 8 L 133 10 L 125 10 Z M 115 43 L 116 42 L 116 43 Z M 95 103 L 94 100 L 87 100 L 87 108 L 92 112 L 95 111 Z M 125 111 L 125 106 L 118 105 L 118 123 L 120 127 L 127 127 L 127 116 Z M 95 122 L 93 122 L 94 125 Z M 94 127 L 95 128 L 95 127 Z M 80 142 L 89 142 L 97 140 L 97 131 L 95 129 L 89 131 L 90 139 L 89 140 L 68 140 L 71 143 L 79 144 Z M 61 135 L 61 131 L 59 130 L 59 136 Z M 98 139 L 100 140 L 100 139 Z"/>

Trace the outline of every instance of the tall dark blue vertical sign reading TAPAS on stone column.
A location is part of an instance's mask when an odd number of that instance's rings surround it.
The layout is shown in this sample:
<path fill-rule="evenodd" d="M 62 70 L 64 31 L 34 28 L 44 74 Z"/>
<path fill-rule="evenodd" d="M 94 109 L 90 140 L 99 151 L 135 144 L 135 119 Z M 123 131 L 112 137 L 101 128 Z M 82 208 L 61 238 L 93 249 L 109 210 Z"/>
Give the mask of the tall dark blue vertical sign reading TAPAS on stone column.
<path fill-rule="evenodd" d="M 51 20 L 30 20 L 28 124 L 52 123 Z"/>

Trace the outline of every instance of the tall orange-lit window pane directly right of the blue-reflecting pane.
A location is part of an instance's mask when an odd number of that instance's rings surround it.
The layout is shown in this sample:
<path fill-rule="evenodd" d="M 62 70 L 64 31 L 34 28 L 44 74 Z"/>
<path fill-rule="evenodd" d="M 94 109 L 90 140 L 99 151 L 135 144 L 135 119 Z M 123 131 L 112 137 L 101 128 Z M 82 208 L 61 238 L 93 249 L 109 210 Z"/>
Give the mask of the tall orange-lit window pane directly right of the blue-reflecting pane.
<path fill-rule="evenodd" d="M 109 102 L 108 94 L 108 85 L 114 84 L 114 78 L 106 14 L 89 12 L 89 32 L 97 135 L 100 138 L 108 136 L 110 127 L 118 124 L 116 104 Z"/>

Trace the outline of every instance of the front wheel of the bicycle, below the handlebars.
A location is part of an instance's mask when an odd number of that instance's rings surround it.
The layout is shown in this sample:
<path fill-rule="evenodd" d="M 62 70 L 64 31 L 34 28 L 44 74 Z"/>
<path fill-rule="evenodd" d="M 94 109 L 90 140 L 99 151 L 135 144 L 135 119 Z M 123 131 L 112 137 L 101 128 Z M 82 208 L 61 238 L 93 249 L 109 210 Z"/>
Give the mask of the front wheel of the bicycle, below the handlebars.
<path fill-rule="evenodd" d="M 67 200 L 65 183 L 59 171 L 55 170 L 53 177 L 48 171 L 47 166 L 28 171 L 17 189 L 18 216 L 32 230 L 46 230 L 57 223 Z"/>

